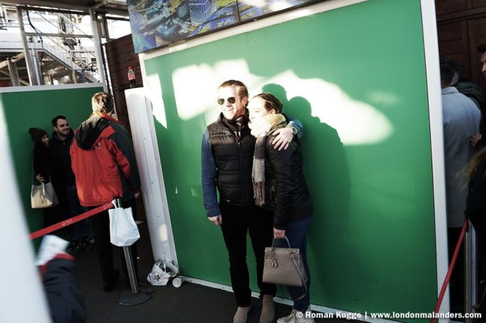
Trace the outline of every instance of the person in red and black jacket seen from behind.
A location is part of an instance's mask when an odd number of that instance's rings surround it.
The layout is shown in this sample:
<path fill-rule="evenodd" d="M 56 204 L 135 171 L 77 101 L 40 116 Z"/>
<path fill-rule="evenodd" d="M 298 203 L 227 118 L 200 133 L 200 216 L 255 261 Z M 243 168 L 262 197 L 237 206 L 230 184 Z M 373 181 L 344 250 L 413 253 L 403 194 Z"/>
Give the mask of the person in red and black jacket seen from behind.
<path fill-rule="evenodd" d="M 140 194 L 140 176 L 131 138 L 123 124 L 110 116 L 113 111 L 113 99 L 110 94 L 94 94 L 91 107 L 93 114 L 75 130 L 71 145 L 71 166 L 80 203 L 82 206 L 96 207 L 113 199 L 121 199 L 123 207 L 131 207 L 135 214 L 135 199 Z M 113 268 L 108 211 L 96 215 L 92 224 L 103 289 L 110 292 L 119 278 L 119 271 Z M 137 259 L 135 244 L 131 249 L 133 259 Z M 119 250 L 121 266 L 128 284 L 123 249 Z M 134 266 L 138 278 L 136 261 Z"/>

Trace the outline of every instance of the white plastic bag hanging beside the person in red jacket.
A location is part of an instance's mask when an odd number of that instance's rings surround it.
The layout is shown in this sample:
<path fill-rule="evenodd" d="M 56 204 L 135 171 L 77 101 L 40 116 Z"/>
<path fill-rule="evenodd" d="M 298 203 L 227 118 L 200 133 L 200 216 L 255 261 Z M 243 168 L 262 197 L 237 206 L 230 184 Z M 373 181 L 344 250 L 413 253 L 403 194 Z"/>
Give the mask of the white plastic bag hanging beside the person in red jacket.
<path fill-rule="evenodd" d="M 108 214 L 110 215 L 110 241 L 112 244 L 118 247 L 128 247 L 140 238 L 131 208 L 110 209 Z"/>

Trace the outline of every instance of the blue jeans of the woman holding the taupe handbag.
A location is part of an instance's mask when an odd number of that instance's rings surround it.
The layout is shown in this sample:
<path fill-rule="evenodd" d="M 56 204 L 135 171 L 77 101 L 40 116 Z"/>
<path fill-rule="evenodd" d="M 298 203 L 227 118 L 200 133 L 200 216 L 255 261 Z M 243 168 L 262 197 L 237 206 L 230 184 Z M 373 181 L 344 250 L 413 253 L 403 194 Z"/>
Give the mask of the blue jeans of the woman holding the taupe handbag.
<path fill-rule="evenodd" d="M 288 223 L 285 231 L 285 235 L 288 238 L 290 247 L 299 248 L 300 254 L 302 254 L 302 261 L 304 261 L 305 272 L 307 273 L 307 294 L 304 287 L 287 286 L 290 297 L 294 300 L 294 306 L 296 310 L 304 313 L 311 303 L 311 298 L 309 296 L 311 287 L 311 273 L 309 272 L 309 265 L 307 264 L 307 229 L 309 229 L 309 224 L 311 224 L 312 215 L 306 219 Z M 287 241 L 285 239 L 277 239 L 275 241 L 274 247 L 287 247 Z M 304 298 L 295 301 L 300 296 L 304 295 Z"/>

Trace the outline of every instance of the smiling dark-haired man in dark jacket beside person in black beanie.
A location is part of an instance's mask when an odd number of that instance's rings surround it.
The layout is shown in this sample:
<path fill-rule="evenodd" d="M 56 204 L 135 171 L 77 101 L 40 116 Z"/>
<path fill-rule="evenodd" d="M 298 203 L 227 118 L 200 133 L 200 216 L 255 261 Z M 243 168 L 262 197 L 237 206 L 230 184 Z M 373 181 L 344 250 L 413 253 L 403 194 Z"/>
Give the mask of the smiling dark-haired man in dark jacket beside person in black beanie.
<path fill-rule="evenodd" d="M 71 148 L 74 134 L 64 115 L 57 115 L 52 119 L 52 128 L 54 131 L 52 132 L 52 139 L 50 141 L 51 154 L 56 163 L 56 173 L 62 179 L 64 185 L 69 215 L 70 217 L 74 217 L 86 211 L 86 208 L 80 205 L 74 173 L 71 168 L 69 148 Z M 72 227 L 71 245 L 68 247 L 68 252 L 75 255 L 80 249 L 85 251 L 91 251 L 93 249 L 89 241 L 88 219 L 76 222 Z"/>

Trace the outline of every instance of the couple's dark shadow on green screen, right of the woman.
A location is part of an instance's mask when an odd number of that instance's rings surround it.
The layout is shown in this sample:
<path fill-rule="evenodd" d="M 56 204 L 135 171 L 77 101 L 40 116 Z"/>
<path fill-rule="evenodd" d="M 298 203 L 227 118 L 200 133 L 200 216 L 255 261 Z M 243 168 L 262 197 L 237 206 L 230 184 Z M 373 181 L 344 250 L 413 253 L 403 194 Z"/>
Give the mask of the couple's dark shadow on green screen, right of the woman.
<path fill-rule="evenodd" d="M 264 85 L 262 92 L 270 92 L 277 96 L 283 103 L 283 113 L 300 120 L 304 126 L 304 136 L 301 138 L 304 175 L 311 196 L 314 201 L 318 199 L 317 203 L 314 203 L 314 219 L 308 235 L 309 254 L 314 255 L 310 261 L 312 287 L 316 290 L 326 290 L 327 296 L 332 299 L 332 291 L 324 285 L 325 280 L 312 273 L 327 271 L 329 258 L 318 257 L 322 254 L 320 245 L 323 243 L 341 245 L 341 254 L 353 252 L 341 231 L 331 229 L 327 225 L 329 221 L 326 220 L 329 215 L 339 215 L 339 221 L 342 223 L 349 220 L 351 180 L 344 146 L 336 129 L 312 115 L 312 106 L 304 97 L 295 96 L 289 99 L 286 89 L 274 83 Z M 334 261 L 338 268 L 346 268 L 348 264 L 348 260 L 342 257 L 334 257 Z M 311 289 L 312 294 L 314 293 Z"/>

